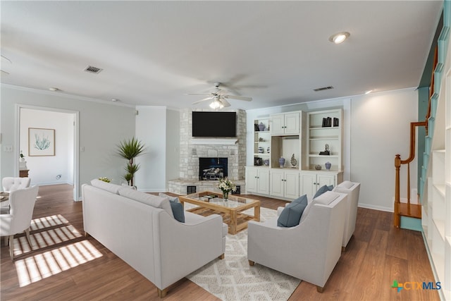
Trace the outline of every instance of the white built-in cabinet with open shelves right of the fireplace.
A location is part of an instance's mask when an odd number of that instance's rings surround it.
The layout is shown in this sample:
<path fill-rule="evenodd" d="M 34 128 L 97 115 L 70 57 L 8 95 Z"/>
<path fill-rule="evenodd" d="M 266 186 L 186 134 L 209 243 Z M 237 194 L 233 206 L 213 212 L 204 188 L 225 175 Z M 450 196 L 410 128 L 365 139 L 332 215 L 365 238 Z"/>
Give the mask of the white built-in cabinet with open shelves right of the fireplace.
<path fill-rule="evenodd" d="M 304 194 L 312 197 L 323 185 L 341 183 L 342 116 L 342 109 L 332 109 L 277 113 L 254 120 L 254 166 L 246 167 L 247 192 L 293 200 Z M 326 145 L 329 154 L 320 154 Z M 326 163 L 331 164 L 330 170 Z M 316 169 L 318 165 L 321 170 Z M 259 177 L 263 171 L 268 173 Z"/>

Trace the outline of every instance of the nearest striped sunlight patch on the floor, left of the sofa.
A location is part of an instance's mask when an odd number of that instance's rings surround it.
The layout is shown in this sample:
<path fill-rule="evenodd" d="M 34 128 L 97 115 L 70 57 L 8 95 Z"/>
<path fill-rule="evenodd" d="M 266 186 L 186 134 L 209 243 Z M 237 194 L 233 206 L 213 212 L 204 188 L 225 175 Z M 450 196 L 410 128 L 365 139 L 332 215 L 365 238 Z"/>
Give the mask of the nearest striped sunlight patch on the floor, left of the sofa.
<path fill-rule="evenodd" d="M 82 240 L 17 260 L 15 265 L 19 286 L 22 288 L 102 256 L 91 242 Z"/>

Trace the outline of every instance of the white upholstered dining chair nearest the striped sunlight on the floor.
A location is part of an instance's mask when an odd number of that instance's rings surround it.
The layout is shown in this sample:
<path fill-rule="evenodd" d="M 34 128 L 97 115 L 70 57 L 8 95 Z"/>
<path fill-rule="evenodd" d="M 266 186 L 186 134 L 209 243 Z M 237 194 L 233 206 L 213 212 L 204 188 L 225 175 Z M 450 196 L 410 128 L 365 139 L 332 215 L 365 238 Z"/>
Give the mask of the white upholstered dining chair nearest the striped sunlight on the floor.
<path fill-rule="evenodd" d="M 35 209 L 38 186 L 13 190 L 9 194 L 9 214 L 0 214 L 0 236 L 9 237 L 9 255 L 14 258 L 14 235 L 25 231 L 30 242 L 30 225 Z"/>

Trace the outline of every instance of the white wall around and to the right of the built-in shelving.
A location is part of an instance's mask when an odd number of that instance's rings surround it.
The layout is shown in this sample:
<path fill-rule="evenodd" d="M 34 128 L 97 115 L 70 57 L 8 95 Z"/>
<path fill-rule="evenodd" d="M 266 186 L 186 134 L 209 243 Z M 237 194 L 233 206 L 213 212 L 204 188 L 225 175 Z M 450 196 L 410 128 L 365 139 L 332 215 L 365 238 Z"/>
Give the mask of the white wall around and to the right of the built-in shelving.
<path fill-rule="evenodd" d="M 409 156 L 409 126 L 417 121 L 418 94 L 414 89 L 329 99 L 308 104 L 247 111 L 247 149 L 253 149 L 254 119 L 270 113 L 319 111 L 341 107 L 344 113 L 343 165 L 345 180 L 360 182 L 359 206 L 393 211 L 395 154 Z M 416 156 L 422 154 L 416 154 Z M 248 152 L 247 165 L 253 165 Z M 416 189 L 416 160 L 410 166 L 411 188 Z M 404 167 L 404 166 L 403 166 Z M 406 169 L 401 179 L 406 179 Z M 407 197 L 402 182 L 401 197 Z"/>

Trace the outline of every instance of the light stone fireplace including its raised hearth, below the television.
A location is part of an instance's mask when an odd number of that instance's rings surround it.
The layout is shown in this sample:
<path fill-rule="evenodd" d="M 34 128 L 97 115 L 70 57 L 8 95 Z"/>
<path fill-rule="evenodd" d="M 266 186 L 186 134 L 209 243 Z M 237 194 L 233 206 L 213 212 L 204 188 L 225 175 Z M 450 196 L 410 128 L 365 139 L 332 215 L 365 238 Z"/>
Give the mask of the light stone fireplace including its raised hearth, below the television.
<path fill-rule="evenodd" d="M 201 179 L 200 158 L 227 159 L 227 177 L 236 185 L 240 185 L 241 191 L 245 191 L 246 112 L 243 110 L 230 111 L 237 113 L 237 137 L 233 138 L 192 137 L 192 110 L 180 111 L 179 178 L 168 181 L 170 192 L 185 195 L 187 191 L 192 191 L 193 186 L 196 187 L 196 192 L 216 188 L 216 180 Z M 188 186 L 191 187 L 191 190 L 187 190 Z"/>

